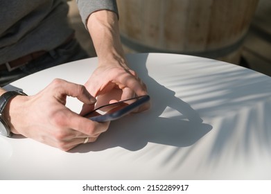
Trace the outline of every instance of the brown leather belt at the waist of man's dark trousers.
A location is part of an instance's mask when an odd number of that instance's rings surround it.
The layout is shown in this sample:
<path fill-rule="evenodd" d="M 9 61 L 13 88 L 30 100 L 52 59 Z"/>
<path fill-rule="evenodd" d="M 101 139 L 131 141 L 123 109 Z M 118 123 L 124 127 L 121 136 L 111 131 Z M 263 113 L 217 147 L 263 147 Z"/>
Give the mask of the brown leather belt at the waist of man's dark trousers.
<path fill-rule="evenodd" d="M 71 42 L 71 40 L 74 38 L 74 33 L 72 35 L 70 35 L 62 44 L 60 44 L 60 46 L 64 46 L 65 44 L 68 44 L 69 42 Z M 58 46 L 58 47 L 60 47 Z M 0 64 L 0 71 L 13 71 L 19 67 L 22 67 L 26 64 L 28 64 L 29 62 L 40 58 L 42 55 L 45 55 L 46 53 L 49 53 L 48 51 L 37 51 L 34 53 L 30 53 L 28 55 L 24 55 L 21 58 L 17 58 L 16 60 L 12 60 L 10 62 L 6 62 L 3 64 Z"/>

